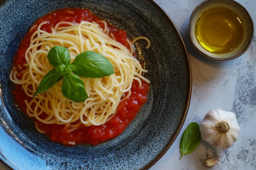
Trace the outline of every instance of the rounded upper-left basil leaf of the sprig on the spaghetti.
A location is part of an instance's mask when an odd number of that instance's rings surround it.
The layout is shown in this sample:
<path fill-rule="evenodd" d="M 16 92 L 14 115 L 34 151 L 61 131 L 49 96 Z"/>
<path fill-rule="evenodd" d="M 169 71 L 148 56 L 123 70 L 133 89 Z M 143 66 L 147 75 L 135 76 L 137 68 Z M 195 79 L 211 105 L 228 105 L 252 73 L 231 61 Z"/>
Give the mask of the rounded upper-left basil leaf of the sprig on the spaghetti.
<path fill-rule="evenodd" d="M 68 64 L 70 62 L 69 51 L 67 48 L 62 46 L 54 46 L 50 49 L 47 58 L 50 64 L 54 67 L 61 64 Z"/>

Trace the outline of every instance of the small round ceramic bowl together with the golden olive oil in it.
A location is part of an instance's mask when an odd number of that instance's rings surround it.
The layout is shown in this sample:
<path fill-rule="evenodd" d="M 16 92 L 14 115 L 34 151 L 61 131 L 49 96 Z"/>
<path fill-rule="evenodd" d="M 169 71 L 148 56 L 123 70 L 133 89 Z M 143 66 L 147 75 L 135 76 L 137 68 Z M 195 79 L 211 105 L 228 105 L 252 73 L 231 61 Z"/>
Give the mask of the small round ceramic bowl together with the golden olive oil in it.
<path fill-rule="evenodd" d="M 253 33 L 249 12 L 233 0 L 206 0 L 194 9 L 189 22 L 192 44 L 213 60 L 241 56 L 249 48 Z"/>

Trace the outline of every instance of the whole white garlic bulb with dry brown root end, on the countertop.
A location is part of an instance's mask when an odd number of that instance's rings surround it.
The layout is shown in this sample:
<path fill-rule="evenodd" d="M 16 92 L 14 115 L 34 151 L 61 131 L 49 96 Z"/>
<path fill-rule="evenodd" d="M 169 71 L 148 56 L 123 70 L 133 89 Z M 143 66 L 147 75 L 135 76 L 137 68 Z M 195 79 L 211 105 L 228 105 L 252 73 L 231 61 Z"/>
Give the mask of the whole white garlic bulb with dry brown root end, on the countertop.
<path fill-rule="evenodd" d="M 230 148 L 240 133 L 236 115 L 221 109 L 209 111 L 199 129 L 201 138 L 219 149 Z"/>

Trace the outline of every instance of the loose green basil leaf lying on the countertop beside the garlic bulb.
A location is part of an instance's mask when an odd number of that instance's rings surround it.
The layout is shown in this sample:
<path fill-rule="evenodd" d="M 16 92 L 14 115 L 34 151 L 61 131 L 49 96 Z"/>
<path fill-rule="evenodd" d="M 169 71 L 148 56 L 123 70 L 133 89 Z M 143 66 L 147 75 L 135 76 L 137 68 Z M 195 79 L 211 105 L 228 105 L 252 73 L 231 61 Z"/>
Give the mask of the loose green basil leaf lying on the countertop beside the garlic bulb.
<path fill-rule="evenodd" d="M 182 153 L 180 159 L 184 154 L 193 152 L 198 147 L 200 140 L 201 132 L 198 123 L 190 123 L 180 139 L 179 150 Z"/>

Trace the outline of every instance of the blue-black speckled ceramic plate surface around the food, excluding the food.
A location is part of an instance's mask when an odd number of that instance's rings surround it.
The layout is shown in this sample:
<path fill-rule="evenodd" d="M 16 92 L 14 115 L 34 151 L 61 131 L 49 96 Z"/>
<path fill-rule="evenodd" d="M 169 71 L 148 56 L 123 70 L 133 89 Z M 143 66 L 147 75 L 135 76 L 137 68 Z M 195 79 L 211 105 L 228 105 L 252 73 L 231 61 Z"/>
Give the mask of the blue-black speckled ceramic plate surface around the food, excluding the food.
<path fill-rule="evenodd" d="M 20 41 L 39 17 L 65 7 L 89 8 L 130 38 L 151 40 L 144 50 L 146 77 L 152 82 L 147 103 L 120 136 L 97 146 L 65 147 L 49 141 L 11 93 L 9 73 Z M 189 106 L 191 68 L 175 25 L 153 1 L 9 0 L 0 6 L 0 23 L 0 158 L 9 168 L 147 169 L 175 140 Z"/>

